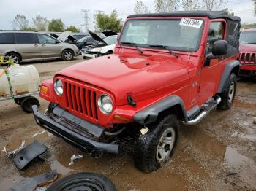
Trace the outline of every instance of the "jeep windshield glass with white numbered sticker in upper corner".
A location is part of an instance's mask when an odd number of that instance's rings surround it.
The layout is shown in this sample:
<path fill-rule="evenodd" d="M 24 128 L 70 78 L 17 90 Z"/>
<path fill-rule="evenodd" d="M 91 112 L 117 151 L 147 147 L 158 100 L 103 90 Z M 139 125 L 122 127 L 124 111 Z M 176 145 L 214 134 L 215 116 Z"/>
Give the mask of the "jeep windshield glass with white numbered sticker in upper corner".
<path fill-rule="evenodd" d="M 195 52 L 200 44 L 203 20 L 195 19 L 140 19 L 127 20 L 120 44 L 132 43 L 139 47 L 160 45 L 172 50 Z"/>

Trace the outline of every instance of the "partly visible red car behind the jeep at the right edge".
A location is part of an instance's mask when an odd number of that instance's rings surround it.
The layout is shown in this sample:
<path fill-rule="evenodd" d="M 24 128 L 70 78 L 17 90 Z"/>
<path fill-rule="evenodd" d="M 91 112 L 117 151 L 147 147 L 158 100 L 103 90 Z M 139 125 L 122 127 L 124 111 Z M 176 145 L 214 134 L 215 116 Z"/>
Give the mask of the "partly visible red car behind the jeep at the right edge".
<path fill-rule="evenodd" d="M 240 75 L 256 76 L 256 28 L 241 31 L 239 41 L 239 61 L 241 63 Z"/>

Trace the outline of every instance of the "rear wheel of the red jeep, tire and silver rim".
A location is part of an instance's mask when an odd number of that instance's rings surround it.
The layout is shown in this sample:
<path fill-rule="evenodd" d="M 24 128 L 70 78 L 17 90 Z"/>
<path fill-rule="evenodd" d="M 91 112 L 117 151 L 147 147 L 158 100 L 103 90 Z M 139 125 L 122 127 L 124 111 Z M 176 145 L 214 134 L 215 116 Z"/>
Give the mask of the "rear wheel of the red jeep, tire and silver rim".
<path fill-rule="evenodd" d="M 228 110 L 233 105 L 233 101 L 236 95 L 236 74 L 230 74 L 229 79 L 227 79 L 227 84 L 223 93 L 220 93 L 219 96 L 222 98 L 222 101 L 217 106 L 218 109 Z"/>

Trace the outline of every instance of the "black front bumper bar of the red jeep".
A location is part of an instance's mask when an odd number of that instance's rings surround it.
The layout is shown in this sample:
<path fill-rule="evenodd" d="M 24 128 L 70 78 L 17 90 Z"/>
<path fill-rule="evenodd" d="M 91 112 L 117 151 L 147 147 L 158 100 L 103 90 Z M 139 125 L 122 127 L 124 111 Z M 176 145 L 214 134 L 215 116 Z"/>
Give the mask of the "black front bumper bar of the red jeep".
<path fill-rule="evenodd" d="M 55 122 L 54 120 L 50 119 L 50 117 L 41 114 L 38 111 L 37 106 L 32 106 L 32 109 L 37 125 L 41 126 L 45 130 L 48 130 L 53 135 L 59 137 L 59 139 L 67 141 L 67 143 L 72 144 L 78 149 L 86 152 L 97 151 L 118 154 L 118 144 L 107 144 L 91 140 L 80 135 L 79 133 L 74 132 L 73 130 L 70 130 L 69 128 L 66 128 L 64 125 Z"/>

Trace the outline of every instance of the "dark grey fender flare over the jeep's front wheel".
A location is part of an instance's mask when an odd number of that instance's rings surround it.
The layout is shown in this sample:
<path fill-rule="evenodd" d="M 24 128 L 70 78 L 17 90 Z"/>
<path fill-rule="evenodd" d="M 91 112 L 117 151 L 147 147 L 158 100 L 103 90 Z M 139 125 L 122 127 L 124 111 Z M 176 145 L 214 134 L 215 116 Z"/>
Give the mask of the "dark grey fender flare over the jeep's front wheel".
<path fill-rule="evenodd" d="M 150 124 L 151 122 L 157 120 L 158 114 L 160 112 L 163 112 L 166 109 L 170 109 L 172 106 L 176 105 L 181 106 L 184 121 L 187 121 L 184 101 L 182 101 L 178 95 L 169 95 L 166 98 L 163 98 L 162 100 L 152 104 L 151 106 L 146 107 L 146 109 L 136 113 L 133 117 L 133 120 L 140 123 L 141 125 Z"/>

